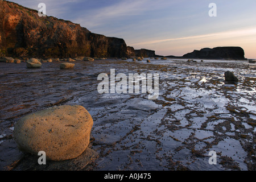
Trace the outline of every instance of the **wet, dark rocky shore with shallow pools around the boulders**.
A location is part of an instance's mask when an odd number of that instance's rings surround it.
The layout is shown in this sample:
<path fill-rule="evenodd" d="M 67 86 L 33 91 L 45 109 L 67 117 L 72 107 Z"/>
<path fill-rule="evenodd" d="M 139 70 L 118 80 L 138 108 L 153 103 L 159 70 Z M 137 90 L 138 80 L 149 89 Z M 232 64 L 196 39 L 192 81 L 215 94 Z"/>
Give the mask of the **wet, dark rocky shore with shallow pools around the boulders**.
<path fill-rule="evenodd" d="M 92 115 L 93 164 L 75 170 L 255 170 L 256 65 L 247 61 L 154 60 L 0 63 L 0 170 L 53 169 L 29 166 L 18 151 L 14 123 L 57 105 L 81 105 Z M 99 94 L 97 76 L 159 73 L 159 98 L 148 94 Z M 238 83 L 225 82 L 233 71 Z M 210 151 L 217 164 L 210 165 Z M 37 160 L 37 158 L 35 158 Z M 83 159 L 79 159 L 83 160 Z M 37 161 L 36 161 L 37 162 Z M 76 161 L 77 162 L 77 161 Z"/>

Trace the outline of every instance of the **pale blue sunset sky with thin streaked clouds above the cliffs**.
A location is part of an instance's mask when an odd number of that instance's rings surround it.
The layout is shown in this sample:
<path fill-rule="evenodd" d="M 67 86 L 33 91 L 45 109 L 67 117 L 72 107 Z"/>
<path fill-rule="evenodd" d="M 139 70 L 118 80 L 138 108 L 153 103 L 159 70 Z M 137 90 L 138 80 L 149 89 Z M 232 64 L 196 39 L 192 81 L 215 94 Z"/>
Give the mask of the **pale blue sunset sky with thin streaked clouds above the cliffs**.
<path fill-rule="evenodd" d="M 239 46 L 256 59 L 255 0 L 13 0 L 70 20 L 96 34 L 125 40 L 135 49 L 183 56 L 194 49 Z M 216 16 L 210 3 L 216 4 Z"/>

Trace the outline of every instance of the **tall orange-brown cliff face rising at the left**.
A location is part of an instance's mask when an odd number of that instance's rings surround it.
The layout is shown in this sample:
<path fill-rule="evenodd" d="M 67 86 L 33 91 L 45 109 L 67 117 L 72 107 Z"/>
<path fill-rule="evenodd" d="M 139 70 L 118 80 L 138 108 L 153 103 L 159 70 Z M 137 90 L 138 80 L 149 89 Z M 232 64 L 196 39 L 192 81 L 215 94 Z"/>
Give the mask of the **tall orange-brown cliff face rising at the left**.
<path fill-rule="evenodd" d="M 124 57 L 123 39 L 93 34 L 79 24 L 0 1 L 0 56 Z"/>

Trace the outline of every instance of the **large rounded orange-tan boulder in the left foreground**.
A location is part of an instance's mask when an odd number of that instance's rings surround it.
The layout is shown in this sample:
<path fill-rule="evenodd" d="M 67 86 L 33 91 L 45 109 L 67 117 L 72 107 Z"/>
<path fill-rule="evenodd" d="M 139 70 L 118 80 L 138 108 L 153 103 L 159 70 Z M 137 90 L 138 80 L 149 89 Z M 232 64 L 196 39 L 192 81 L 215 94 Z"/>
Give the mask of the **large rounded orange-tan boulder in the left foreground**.
<path fill-rule="evenodd" d="M 92 126 L 93 119 L 84 107 L 63 105 L 20 118 L 13 137 L 20 151 L 34 155 L 44 151 L 47 160 L 68 160 L 86 150 Z"/>

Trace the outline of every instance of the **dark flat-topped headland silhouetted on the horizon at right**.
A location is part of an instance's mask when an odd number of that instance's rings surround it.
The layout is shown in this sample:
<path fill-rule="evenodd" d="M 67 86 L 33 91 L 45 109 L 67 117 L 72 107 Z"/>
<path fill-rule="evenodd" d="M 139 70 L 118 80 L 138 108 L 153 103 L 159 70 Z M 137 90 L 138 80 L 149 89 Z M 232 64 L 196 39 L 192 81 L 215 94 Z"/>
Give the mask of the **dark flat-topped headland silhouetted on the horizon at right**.
<path fill-rule="evenodd" d="M 216 47 L 203 48 L 183 56 L 184 58 L 197 59 L 245 59 L 245 52 L 241 47 Z"/>

